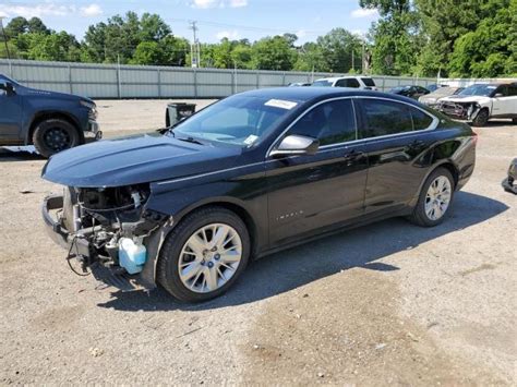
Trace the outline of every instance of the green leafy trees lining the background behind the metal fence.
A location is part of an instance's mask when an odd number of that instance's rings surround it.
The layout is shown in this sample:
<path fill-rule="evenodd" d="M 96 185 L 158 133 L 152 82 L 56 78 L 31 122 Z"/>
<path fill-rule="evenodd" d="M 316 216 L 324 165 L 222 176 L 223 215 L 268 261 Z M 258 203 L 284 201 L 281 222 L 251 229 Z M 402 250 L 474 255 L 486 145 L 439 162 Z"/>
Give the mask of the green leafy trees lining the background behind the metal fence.
<path fill-rule="evenodd" d="M 294 34 L 201 45 L 201 66 L 386 75 L 517 75 L 517 0 L 359 0 L 381 17 L 363 43 L 345 28 L 297 46 Z M 190 43 L 157 14 L 115 15 L 84 40 L 14 17 L 5 26 L 12 58 L 190 65 Z M 4 44 L 0 57 L 7 57 Z"/>

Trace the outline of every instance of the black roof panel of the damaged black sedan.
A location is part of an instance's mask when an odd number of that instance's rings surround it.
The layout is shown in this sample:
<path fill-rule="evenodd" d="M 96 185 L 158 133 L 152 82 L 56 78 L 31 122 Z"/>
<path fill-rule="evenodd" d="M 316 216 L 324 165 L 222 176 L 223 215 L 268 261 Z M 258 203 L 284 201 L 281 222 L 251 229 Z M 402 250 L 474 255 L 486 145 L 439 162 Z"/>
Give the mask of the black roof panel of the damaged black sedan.
<path fill-rule="evenodd" d="M 364 90 L 352 87 L 275 87 L 275 88 L 258 88 L 255 90 L 249 90 L 240 93 L 241 96 L 258 97 L 258 98 L 270 98 L 270 99 L 287 99 L 299 102 L 314 102 L 322 99 L 333 97 L 378 97 L 394 100 L 400 100 L 404 102 L 410 102 L 412 105 L 420 106 L 414 99 L 397 96 L 394 94 Z"/>

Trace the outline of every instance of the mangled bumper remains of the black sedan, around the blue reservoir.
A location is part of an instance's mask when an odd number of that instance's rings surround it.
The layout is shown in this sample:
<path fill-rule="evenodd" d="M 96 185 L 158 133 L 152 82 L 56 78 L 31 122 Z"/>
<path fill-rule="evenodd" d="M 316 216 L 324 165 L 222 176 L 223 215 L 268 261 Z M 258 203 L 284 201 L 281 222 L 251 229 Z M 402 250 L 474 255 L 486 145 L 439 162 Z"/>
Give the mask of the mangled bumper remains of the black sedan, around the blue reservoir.
<path fill-rule="evenodd" d="M 62 211 L 65 205 L 62 195 L 51 195 L 44 199 L 41 215 L 48 235 L 68 252 L 67 259 L 75 259 L 87 273 L 99 281 L 122 291 L 152 290 L 156 288 L 156 262 L 159 247 L 172 226 L 171 219 L 156 219 L 153 222 L 154 232 L 142 238 L 147 250 L 147 258 L 141 273 L 130 275 L 119 265 L 118 247 L 107 254 L 94 242 L 94 238 L 106 232 L 106 227 L 94 225 L 93 227 L 80 228 L 77 231 L 67 229 Z M 156 217 L 156 214 L 154 214 Z M 145 221 L 145 220 L 144 220 Z M 163 223 L 163 225 L 161 225 Z M 123 223 L 122 223 L 123 225 Z"/>

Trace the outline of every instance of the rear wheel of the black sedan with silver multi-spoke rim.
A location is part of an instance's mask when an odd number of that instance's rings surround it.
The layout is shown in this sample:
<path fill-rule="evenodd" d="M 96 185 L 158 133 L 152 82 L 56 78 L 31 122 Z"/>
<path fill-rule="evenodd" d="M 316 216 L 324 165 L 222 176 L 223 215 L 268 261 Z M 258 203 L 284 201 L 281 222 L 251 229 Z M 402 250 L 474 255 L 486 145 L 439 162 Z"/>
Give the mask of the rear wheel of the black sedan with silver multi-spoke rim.
<path fill-rule="evenodd" d="M 440 225 L 454 196 L 454 179 L 445 168 L 436 168 L 425 180 L 417 206 L 409 220 L 421 227 Z"/>

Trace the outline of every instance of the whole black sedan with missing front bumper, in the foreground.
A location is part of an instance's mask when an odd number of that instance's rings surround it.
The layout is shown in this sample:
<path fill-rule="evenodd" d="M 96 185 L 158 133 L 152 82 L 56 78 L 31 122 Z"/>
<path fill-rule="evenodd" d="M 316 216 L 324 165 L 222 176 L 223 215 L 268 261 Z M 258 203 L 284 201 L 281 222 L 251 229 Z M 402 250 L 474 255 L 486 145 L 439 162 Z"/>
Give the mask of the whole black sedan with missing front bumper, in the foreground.
<path fill-rule="evenodd" d="M 396 95 L 252 90 L 154 135 L 53 156 L 43 178 L 68 189 L 43 216 L 85 269 L 204 301 L 251 258 L 336 230 L 394 216 L 440 225 L 472 174 L 476 138 Z"/>

